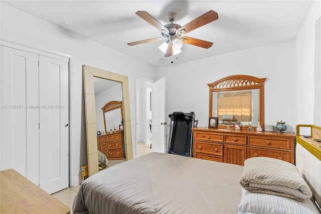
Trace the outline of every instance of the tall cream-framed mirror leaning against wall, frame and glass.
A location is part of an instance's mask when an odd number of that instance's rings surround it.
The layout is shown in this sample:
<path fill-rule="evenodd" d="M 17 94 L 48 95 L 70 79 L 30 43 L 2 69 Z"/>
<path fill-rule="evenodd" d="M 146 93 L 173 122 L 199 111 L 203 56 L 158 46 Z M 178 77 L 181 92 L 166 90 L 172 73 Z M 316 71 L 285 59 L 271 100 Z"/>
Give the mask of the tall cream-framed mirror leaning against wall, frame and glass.
<path fill-rule="evenodd" d="M 107 134 L 110 134 L 108 135 L 108 137 L 110 137 L 108 139 L 121 138 L 121 141 L 119 142 L 112 142 L 111 145 L 115 146 L 115 148 L 112 148 L 112 149 L 114 149 L 113 151 L 115 152 L 109 151 L 108 155 L 112 156 L 110 159 L 118 159 L 123 157 L 126 157 L 127 160 L 133 159 L 128 77 L 120 74 L 112 73 L 110 71 L 105 71 L 102 69 L 90 67 L 88 65 L 83 65 L 83 78 L 84 78 L 85 115 L 86 115 L 86 131 L 87 131 L 88 175 L 91 176 L 98 172 L 97 151 L 98 151 L 98 148 L 100 148 L 99 142 L 104 139 L 103 136 L 105 136 L 107 139 Z M 100 86 L 97 87 L 95 85 L 95 83 L 97 84 L 97 82 L 102 82 L 102 84 L 99 83 Z M 116 85 L 115 87 L 117 87 L 117 84 L 118 84 L 118 87 L 121 90 L 117 90 L 118 92 L 113 90 L 113 93 L 108 95 L 109 100 L 108 98 L 106 99 L 107 97 L 106 93 L 108 93 L 106 91 L 102 92 L 100 95 L 97 95 L 98 94 L 97 90 L 100 90 L 100 91 L 105 90 L 105 89 L 102 89 L 103 87 L 105 87 L 104 84 L 106 85 L 113 84 L 111 82 L 115 83 Z M 120 97 L 119 95 L 117 96 L 117 93 L 119 93 L 119 91 L 121 91 Z M 101 99 L 101 97 L 104 97 L 104 98 Z M 112 122 L 112 120 L 114 119 L 117 120 L 116 116 L 115 118 L 113 118 L 114 114 L 112 114 L 111 116 L 108 115 L 108 112 L 110 111 L 103 112 L 104 107 L 106 107 L 107 103 L 110 102 L 110 99 L 113 99 L 114 101 L 117 101 L 117 102 L 121 102 L 121 108 L 115 109 L 116 110 L 115 112 L 118 112 L 118 110 L 120 111 L 120 114 L 119 114 L 120 121 Z M 105 113 L 107 113 L 107 115 L 105 115 Z M 109 118 L 109 116 L 111 118 Z M 111 133 L 110 132 L 108 133 L 108 130 L 107 130 L 108 123 L 113 124 Z M 115 125 L 115 124 L 118 124 L 118 125 Z M 102 137 L 97 136 L 97 131 L 99 131 L 99 133 L 102 134 L 100 135 Z M 119 137 L 115 137 L 114 135 L 115 136 L 117 135 Z M 124 144 L 120 148 L 119 143 L 121 143 L 122 145 L 123 142 Z M 103 151 L 103 149 L 104 148 L 100 148 L 100 151 Z M 122 157 L 122 154 L 123 154 L 123 157 Z"/>

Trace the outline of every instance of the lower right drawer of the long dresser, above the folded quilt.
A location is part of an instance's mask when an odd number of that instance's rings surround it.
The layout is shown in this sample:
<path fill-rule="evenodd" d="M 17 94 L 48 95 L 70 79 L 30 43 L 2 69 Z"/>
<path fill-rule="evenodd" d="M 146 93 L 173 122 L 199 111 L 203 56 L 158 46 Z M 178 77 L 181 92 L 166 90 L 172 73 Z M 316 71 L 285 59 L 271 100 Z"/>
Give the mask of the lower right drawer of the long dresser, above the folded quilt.
<path fill-rule="evenodd" d="M 279 160 L 290 162 L 290 152 L 248 148 L 248 158 L 253 158 L 253 157 L 270 157 L 270 158 L 276 158 Z"/>

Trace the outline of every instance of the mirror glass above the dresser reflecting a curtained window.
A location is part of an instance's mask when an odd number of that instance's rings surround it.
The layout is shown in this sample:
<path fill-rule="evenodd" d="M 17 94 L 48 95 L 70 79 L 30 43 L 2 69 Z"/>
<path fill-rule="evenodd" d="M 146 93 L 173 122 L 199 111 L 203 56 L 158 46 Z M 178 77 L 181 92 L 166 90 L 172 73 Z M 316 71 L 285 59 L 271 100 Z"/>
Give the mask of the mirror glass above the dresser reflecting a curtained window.
<path fill-rule="evenodd" d="M 235 90 L 212 92 L 212 115 L 219 118 L 219 124 L 235 124 L 240 121 L 242 125 L 259 125 L 259 91 Z"/>

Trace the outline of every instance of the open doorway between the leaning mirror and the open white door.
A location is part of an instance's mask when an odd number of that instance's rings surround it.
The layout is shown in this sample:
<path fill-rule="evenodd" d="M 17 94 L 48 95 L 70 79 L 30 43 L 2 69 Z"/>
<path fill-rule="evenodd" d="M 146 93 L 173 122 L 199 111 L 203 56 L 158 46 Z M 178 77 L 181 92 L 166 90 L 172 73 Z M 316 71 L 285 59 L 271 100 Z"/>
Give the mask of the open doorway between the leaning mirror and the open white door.
<path fill-rule="evenodd" d="M 136 157 L 151 152 L 152 88 L 152 82 L 136 79 Z"/>

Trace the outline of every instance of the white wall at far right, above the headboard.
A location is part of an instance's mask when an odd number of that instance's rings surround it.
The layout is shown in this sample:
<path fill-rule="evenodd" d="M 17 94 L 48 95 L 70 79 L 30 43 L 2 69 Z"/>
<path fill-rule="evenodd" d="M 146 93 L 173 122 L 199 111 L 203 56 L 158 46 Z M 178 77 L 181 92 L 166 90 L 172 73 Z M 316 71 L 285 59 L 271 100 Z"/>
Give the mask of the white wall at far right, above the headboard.
<path fill-rule="evenodd" d="M 295 40 L 295 85 L 297 86 L 295 92 L 299 97 L 296 102 L 296 124 L 314 124 L 314 101 L 318 101 L 318 106 L 321 106 L 321 100 L 314 100 L 314 93 L 318 93 L 318 97 L 321 94 L 319 90 L 314 91 L 314 84 L 321 81 L 321 79 L 314 80 L 315 72 L 320 72 L 314 69 L 314 60 L 318 60 L 318 63 L 321 60 L 319 57 L 315 59 L 314 56 L 315 48 L 320 48 L 315 46 L 315 25 L 320 16 L 321 2 L 314 1 Z M 320 74 L 318 73 L 316 76 L 320 77 Z M 318 111 L 320 112 L 321 110 L 319 109 Z M 318 121 L 318 124 L 315 125 L 321 126 L 321 122 Z"/>

